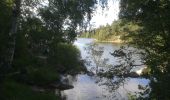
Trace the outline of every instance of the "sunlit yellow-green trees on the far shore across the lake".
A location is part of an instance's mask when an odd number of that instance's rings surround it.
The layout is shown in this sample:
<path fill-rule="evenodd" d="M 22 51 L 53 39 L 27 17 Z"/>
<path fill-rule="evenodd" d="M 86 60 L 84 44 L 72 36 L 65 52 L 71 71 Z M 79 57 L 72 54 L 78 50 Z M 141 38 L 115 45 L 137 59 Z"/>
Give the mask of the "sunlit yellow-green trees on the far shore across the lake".
<path fill-rule="evenodd" d="M 140 27 L 135 23 L 126 22 L 124 20 L 117 20 L 114 21 L 111 25 L 100 26 L 99 28 L 93 29 L 90 32 L 84 32 L 80 37 L 95 38 L 99 41 L 115 41 L 119 39 L 130 41 L 131 38 L 128 37 L 128 34 L 136 32 L 139 29 Z"/>

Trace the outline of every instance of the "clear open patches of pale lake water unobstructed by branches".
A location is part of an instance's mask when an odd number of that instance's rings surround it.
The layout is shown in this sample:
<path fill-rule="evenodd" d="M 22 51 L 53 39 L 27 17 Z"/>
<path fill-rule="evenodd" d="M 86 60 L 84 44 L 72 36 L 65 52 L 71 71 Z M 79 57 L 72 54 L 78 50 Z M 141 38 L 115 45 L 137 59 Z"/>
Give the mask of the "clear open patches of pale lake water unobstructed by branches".
<path fill-rule="evenodd" d="M 88 52 L 89 44 L 94 42 L 93 39 L 78 38 L 75 45 L 81 51 L 81 57 L 84 60 L 90 61 L 86 64 L 88 70 L 95 69 L 95 61 L 90 58 L 91 54 Z M 117 58 L 110 53 L 119 49 L 120 44 L 112 43 L 98 43 L 104 51 L 100 59 L 107 59 L 107 64 L 117 64 Z M 149 80 L 144 78 L 126 78 L 126 79 L 107 79 L 100 78 L 97 75 L 79 74 L 77 76 L 68 76 L 69 84 L 74 88 L 62 91 L 62 95 L 66 100 L 127 100 L 128 93 L 135 93 L 141 90 L 138 85 L 147 85 Z M 118 81 L 115 83 L 115 81 Z"/>

